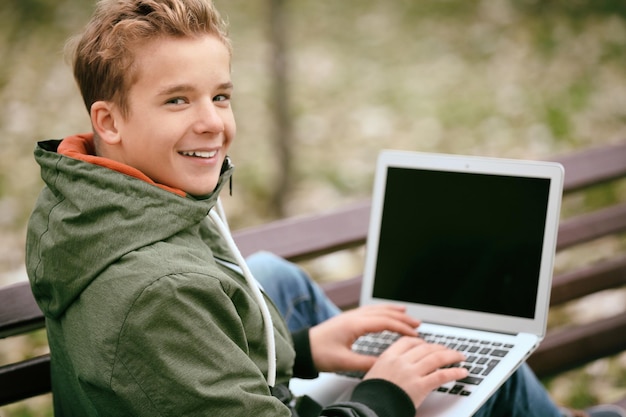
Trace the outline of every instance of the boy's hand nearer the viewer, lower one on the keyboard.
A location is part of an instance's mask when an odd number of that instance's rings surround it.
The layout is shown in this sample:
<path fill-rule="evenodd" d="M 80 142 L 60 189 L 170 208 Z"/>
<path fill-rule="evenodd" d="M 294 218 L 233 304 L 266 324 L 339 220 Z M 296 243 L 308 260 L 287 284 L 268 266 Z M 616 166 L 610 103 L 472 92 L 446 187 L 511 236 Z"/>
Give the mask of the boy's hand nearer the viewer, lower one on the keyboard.
<path fill-rule="evenodd" d="M 363 379 L 386 379 L 402 388 L 415 407 L 437 387 L 467 376 L 465 368 L 444 368 L 465 359 L 461 352 L 422 339 L 402 337 L 389 346 Z"/>

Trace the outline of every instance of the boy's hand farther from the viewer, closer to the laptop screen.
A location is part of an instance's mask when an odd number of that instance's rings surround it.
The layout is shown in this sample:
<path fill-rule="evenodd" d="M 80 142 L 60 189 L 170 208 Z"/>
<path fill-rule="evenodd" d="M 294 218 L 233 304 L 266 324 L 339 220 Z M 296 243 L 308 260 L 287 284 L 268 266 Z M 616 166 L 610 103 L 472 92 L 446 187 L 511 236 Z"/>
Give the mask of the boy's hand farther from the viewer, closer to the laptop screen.
<path fill-rule="evenodd" d="M 366 333 L 390 330 L 417 340 L 420 322 L 408 316 L 404 307 L 373 305 L 342 313 L 309 330 L 311 354 L 319 371 L 368 371 L 374 356 L 352 351 L 352 343 Z"/>

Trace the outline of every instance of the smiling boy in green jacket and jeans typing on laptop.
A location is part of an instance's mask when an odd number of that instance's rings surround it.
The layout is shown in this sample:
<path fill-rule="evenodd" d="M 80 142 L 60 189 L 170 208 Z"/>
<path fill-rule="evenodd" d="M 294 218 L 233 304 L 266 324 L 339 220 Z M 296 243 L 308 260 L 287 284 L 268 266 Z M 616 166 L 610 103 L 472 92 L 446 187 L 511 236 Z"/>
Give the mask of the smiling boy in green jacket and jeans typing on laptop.
<path fill-rule="evenodd" d="M 466 376 L 442 369 L 463 356 L 414 337 L 402 309 L 336 314 L 293 265 L 241 258 L 216 213 L 236 128 L 231 46 L 210 0 L 100 1 L 73 62 L 93 132 L 36 147 L 47 187 L 27 238 L 56 415 L 412 416 Z M 329 312 L 291 334 L 266 294 L 290 314 L 280 297 L 294 283 Z M 377 359 L 351 351 L 383 329 L 413 337 Z M 292 401 L 292 376 L 342 370 L 368 371 L 348 401 Z M 560 415 L 526 368 L 482 412 Z"/>

